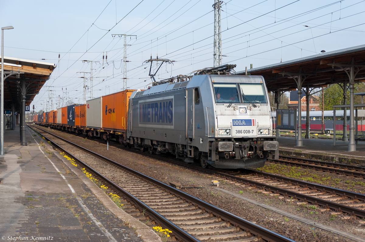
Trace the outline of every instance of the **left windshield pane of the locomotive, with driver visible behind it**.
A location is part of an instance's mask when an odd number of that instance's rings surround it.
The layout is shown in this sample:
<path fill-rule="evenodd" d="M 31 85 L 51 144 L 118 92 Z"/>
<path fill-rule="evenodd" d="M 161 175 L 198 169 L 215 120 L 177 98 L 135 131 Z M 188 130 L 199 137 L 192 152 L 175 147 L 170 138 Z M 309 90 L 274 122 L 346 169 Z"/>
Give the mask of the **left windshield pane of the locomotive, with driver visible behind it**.
<path fill-rule="evenodd" d="M 239 103 L 237 84 L 213 83 L 215 101 L 217 103 Z"/>

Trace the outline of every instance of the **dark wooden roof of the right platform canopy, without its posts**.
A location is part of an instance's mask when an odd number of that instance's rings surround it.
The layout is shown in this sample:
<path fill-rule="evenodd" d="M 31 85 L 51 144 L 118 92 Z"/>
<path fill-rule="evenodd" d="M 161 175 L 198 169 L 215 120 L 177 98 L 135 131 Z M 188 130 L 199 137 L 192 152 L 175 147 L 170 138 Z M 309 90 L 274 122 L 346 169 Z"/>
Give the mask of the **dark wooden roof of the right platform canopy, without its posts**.
<path fill-rule="evenodd" d="M 269 66 L 247 70 L 250 75 L 263 76 L 269 91 L 296 90 L 297 84 L 292 77 L 300 73 L 306 79 L 302 87 L 327 87 L 328 84 L 349 82 L 349 76 L 339 67 L 332 64 L 350 66 L 354 60 L 355 83 L 365 82 L 365 45 L 337 51 L 322 53 L 277 63 Z M 245 71 L 237 72 L 237 75 L 245 75 Z"/>

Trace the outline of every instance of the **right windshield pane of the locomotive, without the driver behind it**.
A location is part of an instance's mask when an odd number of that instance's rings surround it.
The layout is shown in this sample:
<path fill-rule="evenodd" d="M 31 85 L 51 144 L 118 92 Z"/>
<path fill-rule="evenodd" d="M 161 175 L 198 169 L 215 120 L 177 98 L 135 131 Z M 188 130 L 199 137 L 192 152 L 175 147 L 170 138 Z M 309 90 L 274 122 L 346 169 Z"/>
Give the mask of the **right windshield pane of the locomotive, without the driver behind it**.
<path fill-rule="evenodd" d="M 243 103 L 266 103 L 264 85 L 257 84 L 239 84 Z"/>

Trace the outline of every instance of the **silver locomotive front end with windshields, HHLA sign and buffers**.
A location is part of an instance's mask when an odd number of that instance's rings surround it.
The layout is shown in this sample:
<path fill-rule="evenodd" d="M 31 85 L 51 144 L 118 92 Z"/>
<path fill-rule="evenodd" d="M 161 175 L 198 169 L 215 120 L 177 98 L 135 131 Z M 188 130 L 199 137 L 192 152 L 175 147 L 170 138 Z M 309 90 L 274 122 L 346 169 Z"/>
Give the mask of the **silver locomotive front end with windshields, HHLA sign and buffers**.
<path fill-rule="evenodd" d="M 214 167 L 262 167 L 278 148 L 272 136 L 264 79 L 261 76 L 220 77 L 211 77 L 216 127 L 215 140 L 209 146 L 215 154 L 208 151 L 207 156 L 202 156 L 202 166 L 208 163 Z"/>

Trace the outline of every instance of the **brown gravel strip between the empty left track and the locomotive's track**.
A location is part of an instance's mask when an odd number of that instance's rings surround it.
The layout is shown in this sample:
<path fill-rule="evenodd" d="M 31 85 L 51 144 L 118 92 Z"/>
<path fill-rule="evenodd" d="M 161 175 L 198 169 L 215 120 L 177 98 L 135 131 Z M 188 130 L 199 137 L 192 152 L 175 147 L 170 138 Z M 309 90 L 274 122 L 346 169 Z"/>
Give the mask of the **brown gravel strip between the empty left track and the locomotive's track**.
<path fill-rule="evenodd" d="M 238 199 L 232 195 L 219 193 L 219 191 L 212 187 L 211 180 L 213 177 L 210 175 L 187 170 L 186 168 L 181 168 L 156 159 L 146 158 L 111 146 L 109 147 L 109 151 L 107 151 L 105 144 L 60 131 L 51 130 L 51 132 L 166 184 L 169 182 L 178 182 L 183 187 L 205 187 L 203 189 L 183 189 L 183 191 L 295 241 L 351 241 L 351 239 L 342 237 L 341 235 L 301 223 L 295 219 L 285 218 L 281 214 Z M 325 174 L 324 172 L 316 173 L 318 175 Z M 342 215 L 331 217 L 331 212 L 320 213 L 317 210 L 297 206 L 262 193 L 246 191 L 240 186 L 225 181 L 221 181 L 220 187 L 236 194 L 241 194 L 244 197 L 254 199 L 255 201 L 299 215 L 300 217 L 311 219 L 315 222 L 318 221 L 318 223 L 365 238 L 364 224 L 358 224 L 349 219 L 342 219 Z"/>

